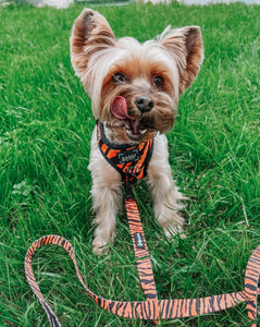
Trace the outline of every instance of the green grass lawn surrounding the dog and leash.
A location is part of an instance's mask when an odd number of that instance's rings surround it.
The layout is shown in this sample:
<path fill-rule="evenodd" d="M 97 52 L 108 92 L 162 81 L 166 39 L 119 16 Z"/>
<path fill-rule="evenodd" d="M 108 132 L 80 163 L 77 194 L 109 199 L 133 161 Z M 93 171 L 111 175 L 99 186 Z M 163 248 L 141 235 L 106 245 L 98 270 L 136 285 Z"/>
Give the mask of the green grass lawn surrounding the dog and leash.
<path fill-rule="evenodd" d="M 48 326 L 24 275 L 39 237 L 75 246 L 88 287 L 113 300 L 144 300 L 123 215 L 108 255 L 91 252 L 90 100 L 70 63 L 69 38 L 83 4 L 67 10 L 0 9 L 0 326 Z M 160 299 L 205 296 L 244 288 L 260 244 L 260 7 L 99 7 L 117 37 L 140 41 L 163 28 L 200 25 L 206 59 L 179 101 L 169 133 L 174 179 L 190 197 L 186 240 L 169 242 L 152 217 L 144 183 L 135 189 Z M 38 251 L 34 269 L 62 326 L 152 326 L 97 306 L 67 255 Z M 162 326 L 248 326 L 245 304 Z"/>

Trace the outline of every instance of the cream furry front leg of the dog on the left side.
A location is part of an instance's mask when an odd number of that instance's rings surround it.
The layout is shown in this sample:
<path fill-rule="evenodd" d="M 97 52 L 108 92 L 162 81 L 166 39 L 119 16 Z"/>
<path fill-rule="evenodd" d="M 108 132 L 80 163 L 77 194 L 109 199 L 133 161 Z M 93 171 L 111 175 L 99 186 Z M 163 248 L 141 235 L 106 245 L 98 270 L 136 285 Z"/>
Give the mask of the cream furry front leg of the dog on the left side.
<path fill-rule="evenodd" d="M 107 245 L 115 235 L 115 215 L 122 205 L 121 175 L 102 157 L 96 140 L 88 168 L 92 177 L 92 208 L 96 213 L 92 250 L 95 254 L 101 254 L 108 251 Z"/>

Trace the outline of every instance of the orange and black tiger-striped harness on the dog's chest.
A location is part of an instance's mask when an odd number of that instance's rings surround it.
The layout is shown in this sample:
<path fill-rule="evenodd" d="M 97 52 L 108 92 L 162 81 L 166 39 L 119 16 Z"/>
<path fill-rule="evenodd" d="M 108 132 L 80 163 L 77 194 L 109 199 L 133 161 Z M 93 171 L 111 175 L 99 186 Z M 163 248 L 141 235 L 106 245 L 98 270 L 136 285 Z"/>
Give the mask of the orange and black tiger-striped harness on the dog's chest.
<path fill-rule="evenodd" d="M 147 174 L 153 150 L 153 138 L 138 145 L 111 144 L 106 137 L 103 123 L 97 120 L 98 146 L 104 159 L 120 172 L 125 185 L 135 185 Z"/>

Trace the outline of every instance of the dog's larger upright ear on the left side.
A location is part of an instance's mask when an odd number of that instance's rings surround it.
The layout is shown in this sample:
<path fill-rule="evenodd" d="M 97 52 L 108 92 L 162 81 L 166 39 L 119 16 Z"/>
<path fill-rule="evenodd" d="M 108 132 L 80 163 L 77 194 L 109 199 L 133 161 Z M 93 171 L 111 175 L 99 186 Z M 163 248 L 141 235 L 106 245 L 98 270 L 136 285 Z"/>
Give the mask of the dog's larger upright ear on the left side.
<path fill-rule="evenodd" d="M 85 8 L 76 19 L 71 36 L 71 61 L 77 76 L 83 77 L 95 52 L 114 45 L 114 34 L 104 16 Z"/>

